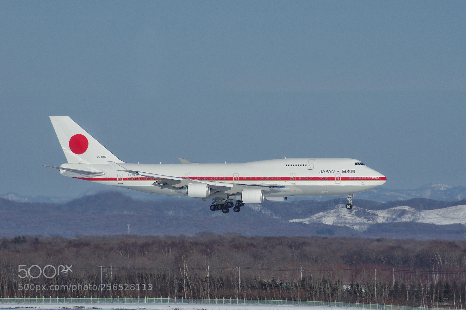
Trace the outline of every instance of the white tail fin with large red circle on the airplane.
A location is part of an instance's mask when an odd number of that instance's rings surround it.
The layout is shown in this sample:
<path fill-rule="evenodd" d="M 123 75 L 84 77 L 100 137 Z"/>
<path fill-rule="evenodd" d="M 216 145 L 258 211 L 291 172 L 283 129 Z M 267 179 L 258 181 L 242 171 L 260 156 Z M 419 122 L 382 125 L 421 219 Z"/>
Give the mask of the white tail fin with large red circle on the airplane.
<path fill-rule="evenodd" d="M 68 116 L 50 116 L 69 163 L 124 163 Z"/>

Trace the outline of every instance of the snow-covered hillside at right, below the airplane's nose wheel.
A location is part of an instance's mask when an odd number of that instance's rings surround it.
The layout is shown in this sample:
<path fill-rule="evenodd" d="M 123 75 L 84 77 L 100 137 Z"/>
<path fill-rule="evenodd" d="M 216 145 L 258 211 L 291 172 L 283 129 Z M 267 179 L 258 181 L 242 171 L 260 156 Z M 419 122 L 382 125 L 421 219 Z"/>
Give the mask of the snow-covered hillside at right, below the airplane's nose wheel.
<path fill-rule="evenodd" d="M 365 231 L 373 224 L 395 222 L 466 225 L 466 205 L 455 205 L 453 207 L 426 211 L 419 211 L 407 206 L 372 211 L 358 207 L 346 210 L 344 205 L 341 204 L 337 209 L 320 212 L 310 218 L 291 219 L 289 222 L 346 226 L 356 231 Z"/>

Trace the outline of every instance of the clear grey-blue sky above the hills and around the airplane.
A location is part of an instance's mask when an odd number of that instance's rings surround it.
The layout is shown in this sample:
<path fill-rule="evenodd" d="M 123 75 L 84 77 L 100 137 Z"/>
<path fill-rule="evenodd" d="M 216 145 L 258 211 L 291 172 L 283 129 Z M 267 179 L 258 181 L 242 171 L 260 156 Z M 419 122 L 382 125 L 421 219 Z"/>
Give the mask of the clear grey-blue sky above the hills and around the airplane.
<path fill-rule="evenodd" d="M 356 158 L 466 185 L 465 1 L 2 1 L 0 193 L 105 189 L 69 115 L 126 162 Z"/>

